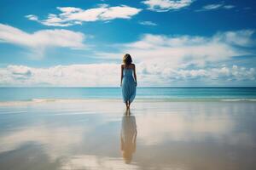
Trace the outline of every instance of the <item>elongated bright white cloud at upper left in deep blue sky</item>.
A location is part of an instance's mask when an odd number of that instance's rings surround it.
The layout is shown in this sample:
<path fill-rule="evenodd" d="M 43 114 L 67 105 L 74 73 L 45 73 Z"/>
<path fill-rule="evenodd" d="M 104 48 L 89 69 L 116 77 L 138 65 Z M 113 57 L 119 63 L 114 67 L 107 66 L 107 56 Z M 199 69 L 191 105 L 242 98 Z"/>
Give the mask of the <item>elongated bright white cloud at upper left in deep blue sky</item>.
<path fill-rule="evenodd" d="M 107 4 L 100 4 L 97 8 L 89 9 L 73 7 L 57 7 L 57 9 L 61 11 L 61 14 L 49 14 L 46 20 L 38 20 L 38 16 L 34 14 L 28 14 L 26 18 L 36 20 L 45 26 L 73 26 L 96 20 L 131 19 L 131 16 L 142 10 L 126 5 L 109 7 Z"/>

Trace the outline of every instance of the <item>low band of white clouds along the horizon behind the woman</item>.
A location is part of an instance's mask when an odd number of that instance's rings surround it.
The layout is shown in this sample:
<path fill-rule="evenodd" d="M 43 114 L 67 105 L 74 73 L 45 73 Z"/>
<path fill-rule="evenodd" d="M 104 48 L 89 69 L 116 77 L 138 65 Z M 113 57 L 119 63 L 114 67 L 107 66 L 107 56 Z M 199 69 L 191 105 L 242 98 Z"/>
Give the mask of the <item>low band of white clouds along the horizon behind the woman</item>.
<path fill-rule="evenodd" d="M 9 65 L 0 69 L 2 86 L 55 86 L 55 87 L 117 87 L 120 81 L 118 64 L 57 65 L 34 68 L 25 65 Z M 191 79 L 208 82 L 255 81 L 254 68 L 237 65 L 209 69 L 172 69 L 157 63 L 138 63 L 137 79 L 140 86 L 168 86 L 172 82 Z"/>

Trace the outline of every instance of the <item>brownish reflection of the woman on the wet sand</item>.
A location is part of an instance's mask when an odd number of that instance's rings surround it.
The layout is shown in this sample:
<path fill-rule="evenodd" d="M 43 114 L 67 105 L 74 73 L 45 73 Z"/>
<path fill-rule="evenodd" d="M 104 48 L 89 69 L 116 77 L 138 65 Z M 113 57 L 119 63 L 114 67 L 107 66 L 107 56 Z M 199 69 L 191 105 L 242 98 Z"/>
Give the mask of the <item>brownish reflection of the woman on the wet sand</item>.
<path fill-rule="evenodd" d="M 135 116 L 123 116 L 121 130 L 121 151 L 125 163 L 130 163 L 136 150 L 137 126 Z"/>

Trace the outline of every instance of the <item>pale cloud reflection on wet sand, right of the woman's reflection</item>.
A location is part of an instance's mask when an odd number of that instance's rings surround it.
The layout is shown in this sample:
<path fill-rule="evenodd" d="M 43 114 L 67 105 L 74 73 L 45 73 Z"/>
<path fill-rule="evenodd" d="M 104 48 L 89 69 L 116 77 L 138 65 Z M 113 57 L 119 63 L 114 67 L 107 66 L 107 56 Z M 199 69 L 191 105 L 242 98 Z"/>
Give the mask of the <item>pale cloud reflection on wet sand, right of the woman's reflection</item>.
<path fill-rule="evenodd" d="M 140 131 L 138 139 L 143 144 L 160 144 L 168 141 L 195 142 L 207 138 L 219 143 L 253 144 L 253 139 L 246 133 L 234 135 L 236 122 L 228 114 L 219 116 L 201 113 L 188 116 L 156 113 L 137 116 L 137 124 Z"/>

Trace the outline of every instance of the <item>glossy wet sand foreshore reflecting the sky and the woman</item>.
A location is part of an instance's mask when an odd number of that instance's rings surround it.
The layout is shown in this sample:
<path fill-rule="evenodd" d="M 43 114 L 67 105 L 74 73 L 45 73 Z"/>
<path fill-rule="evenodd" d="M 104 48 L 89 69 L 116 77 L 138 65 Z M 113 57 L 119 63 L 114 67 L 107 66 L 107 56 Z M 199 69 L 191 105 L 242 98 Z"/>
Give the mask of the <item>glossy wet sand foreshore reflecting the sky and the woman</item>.
<path fill-rule="evenodd" d="M 256 169 L 255 102 L 0 105 L 0 169 Z"/>

